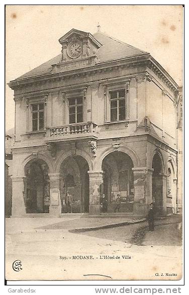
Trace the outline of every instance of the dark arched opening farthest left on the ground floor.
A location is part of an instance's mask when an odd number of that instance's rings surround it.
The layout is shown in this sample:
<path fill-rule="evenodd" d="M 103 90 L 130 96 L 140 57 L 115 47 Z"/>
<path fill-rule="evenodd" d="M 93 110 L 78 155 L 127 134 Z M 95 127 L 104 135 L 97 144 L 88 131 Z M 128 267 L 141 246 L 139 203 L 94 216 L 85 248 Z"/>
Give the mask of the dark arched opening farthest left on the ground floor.
<path fill-rule="evenodd" d="M 26 213 L 49 213 L 49 167 L 34 159 L 25 165 L 24 199 Z"/>

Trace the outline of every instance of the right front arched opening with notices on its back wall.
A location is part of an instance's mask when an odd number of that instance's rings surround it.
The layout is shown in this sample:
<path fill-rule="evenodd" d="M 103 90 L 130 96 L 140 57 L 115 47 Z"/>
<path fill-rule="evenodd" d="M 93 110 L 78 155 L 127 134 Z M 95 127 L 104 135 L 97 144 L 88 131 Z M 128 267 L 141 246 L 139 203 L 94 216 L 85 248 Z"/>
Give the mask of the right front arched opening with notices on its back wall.
<path fill-rule="evenodd" d="M 132 168 L 133 161 L 124 152 L 115 151 L 103 159 L 103 193 L 107 200 L 107 212 L 133 213 L 134 179 Z"/>

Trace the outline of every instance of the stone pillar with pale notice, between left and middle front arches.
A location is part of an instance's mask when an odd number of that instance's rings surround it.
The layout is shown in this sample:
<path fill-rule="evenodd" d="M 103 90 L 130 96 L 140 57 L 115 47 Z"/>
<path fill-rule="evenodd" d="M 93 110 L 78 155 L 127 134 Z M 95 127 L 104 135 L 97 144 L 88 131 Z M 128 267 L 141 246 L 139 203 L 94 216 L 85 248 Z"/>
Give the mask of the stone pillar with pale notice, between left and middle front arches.
<path fill-rule="evenodd" d="M 59 216 L 61 214 L 60 200 L 60 173 L 49 173 L 50 179 L 50 206 L 49 214 L 51 216 Z"/>

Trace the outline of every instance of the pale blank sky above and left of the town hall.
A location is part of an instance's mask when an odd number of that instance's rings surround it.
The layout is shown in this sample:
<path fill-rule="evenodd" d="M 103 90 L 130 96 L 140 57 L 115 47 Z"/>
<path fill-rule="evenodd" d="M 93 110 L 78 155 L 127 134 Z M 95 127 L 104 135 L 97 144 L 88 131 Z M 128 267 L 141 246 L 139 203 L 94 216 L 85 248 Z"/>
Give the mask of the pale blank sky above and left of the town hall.
<path fill-rule="evenodd" d="M 6 83 L 61 53 L 72 28 L 101 31 L 149 52 L 182 85 L 181 5 L 8 5 Z M 14 91 L 6 85 L 6 130 L 14 127 Z"/>

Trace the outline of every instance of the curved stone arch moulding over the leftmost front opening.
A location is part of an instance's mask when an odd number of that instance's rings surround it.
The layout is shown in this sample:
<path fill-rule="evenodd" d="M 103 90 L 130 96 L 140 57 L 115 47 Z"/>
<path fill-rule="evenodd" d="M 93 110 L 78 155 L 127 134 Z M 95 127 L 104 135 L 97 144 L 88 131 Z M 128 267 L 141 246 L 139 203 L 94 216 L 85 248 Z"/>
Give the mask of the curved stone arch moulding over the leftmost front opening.
<path fill-rule="evenodd" d="M 45 161 L 45 163 L 48 165 L 49 167 L 49 173 L 53 173 L 54 172 L 54 165 L 51 161 L 51 159 L 49 159 L 49 157 L 45 154 L 42 153 L 32 153 L 31 155 L 27 156 L 21 163 L 20 169 L 22 169 L 21 175 L 24 175 L 24 168 L 26 166 L 26 164 L 28 162 L 30 162 L 31 160 L 43 160 Z"/>

